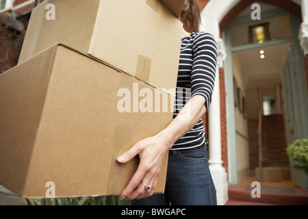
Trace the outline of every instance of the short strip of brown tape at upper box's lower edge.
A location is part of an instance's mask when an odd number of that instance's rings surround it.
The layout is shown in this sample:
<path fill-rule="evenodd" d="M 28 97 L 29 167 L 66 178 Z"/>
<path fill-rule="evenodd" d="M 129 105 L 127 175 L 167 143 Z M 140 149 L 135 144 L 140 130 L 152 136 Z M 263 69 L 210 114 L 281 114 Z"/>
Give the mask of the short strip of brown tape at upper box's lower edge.
<path fill-rule="evenodd" d="M 149 57 L 138 55 L 136 77 L 142 81 L 149 83 L 151 73 L 151 62 Z"/>

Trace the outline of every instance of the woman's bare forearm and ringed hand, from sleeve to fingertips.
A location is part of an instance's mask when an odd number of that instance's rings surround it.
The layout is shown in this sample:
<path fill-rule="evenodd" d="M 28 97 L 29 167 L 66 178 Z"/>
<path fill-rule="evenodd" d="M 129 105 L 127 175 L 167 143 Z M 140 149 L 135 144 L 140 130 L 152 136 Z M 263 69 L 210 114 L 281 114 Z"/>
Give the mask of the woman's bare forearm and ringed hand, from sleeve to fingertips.
<path fill-rule="evenodd" d="M 123 190 L 121 199 L 140 199 L 154 194 L 164 156 L 177 140 L 196 125 L 205 112 L 205 98 L 200 95 L 193 96 L 166 129 L 156 136 L 138 142 L 118 157 L 118 162 L 122 164 L 129 162 L 136 155 L 140 157 L 138 169 L 127 188 Z M 146 185 L 151 188 L 146 190 Z"/>

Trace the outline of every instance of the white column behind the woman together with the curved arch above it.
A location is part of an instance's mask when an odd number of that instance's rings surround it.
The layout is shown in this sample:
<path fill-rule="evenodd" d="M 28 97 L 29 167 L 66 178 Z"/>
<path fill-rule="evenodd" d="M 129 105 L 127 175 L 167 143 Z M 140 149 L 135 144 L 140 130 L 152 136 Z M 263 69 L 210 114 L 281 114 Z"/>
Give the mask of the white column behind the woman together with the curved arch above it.
<path fill-rule="evenodd" d="M 220 136 L 220 84 L 219 68 L 224 68 L 226 49 L 220 38 L 219 23 L 224 15 L 240 0 L 215 0 L 209 1 L 201 13 L 201 31 L 212 34 L 218 46 L 218 69 L 216 71 L 216 83 L 209 109 L 209 170 L 216 187 L 217 203 L 224 205 L 228 201 L 227 172 L 222 166 L 221 136 Z"/>

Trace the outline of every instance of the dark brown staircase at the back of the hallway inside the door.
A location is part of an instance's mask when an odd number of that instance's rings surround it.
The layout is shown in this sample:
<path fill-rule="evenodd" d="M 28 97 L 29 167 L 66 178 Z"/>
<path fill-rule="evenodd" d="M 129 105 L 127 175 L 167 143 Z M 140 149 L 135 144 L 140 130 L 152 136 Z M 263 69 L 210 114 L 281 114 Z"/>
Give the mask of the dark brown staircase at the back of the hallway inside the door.
<path fill-rule="evenodd" d="M 262 166 L 289 166 L 283 114 L 262 116 Z"/>

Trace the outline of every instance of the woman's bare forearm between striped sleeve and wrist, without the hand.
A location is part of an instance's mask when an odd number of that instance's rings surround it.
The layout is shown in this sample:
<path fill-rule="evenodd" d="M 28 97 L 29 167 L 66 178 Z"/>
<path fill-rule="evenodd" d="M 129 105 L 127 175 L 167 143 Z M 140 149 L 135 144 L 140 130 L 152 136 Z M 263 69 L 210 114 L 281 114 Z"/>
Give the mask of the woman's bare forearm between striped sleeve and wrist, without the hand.
<path fill-rule="evenodd" d="M 168 140 L 168 145 L 171 148 L 177 140 L 185 136 L 185 134 L 198 123 L 198 120 L 205 114 L 206 110 L 204 97 L 200 95 L 193 96 L 192 99 L 185 104 L 177 117 L 172 120 L 170 125 L 157 135 L 164 136 L 164 138 Z"/>

